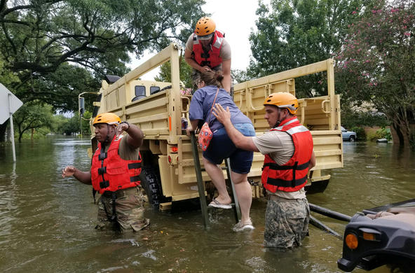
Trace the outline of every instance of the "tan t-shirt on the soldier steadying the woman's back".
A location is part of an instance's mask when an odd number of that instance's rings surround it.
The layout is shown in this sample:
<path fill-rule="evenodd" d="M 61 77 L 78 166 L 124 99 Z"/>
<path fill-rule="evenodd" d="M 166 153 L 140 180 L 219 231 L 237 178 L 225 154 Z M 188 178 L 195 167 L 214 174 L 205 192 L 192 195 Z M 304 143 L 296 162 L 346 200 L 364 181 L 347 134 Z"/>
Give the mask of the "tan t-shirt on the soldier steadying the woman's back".
<path fill-rule="evenodd" d="M 294 155 L 294 142 L 289 134 L 280 131 L 269 131 L 261 136 L 252 137 L 255 146 L 263 155 L 269 155 L 278 165 L 284 165 Z M 306 197 L 304 188 L 296 192 L 285 192 L 277 190 L 275 193 L 268 194 L 277 195 L 285 199 L 303 199 Z"/>

